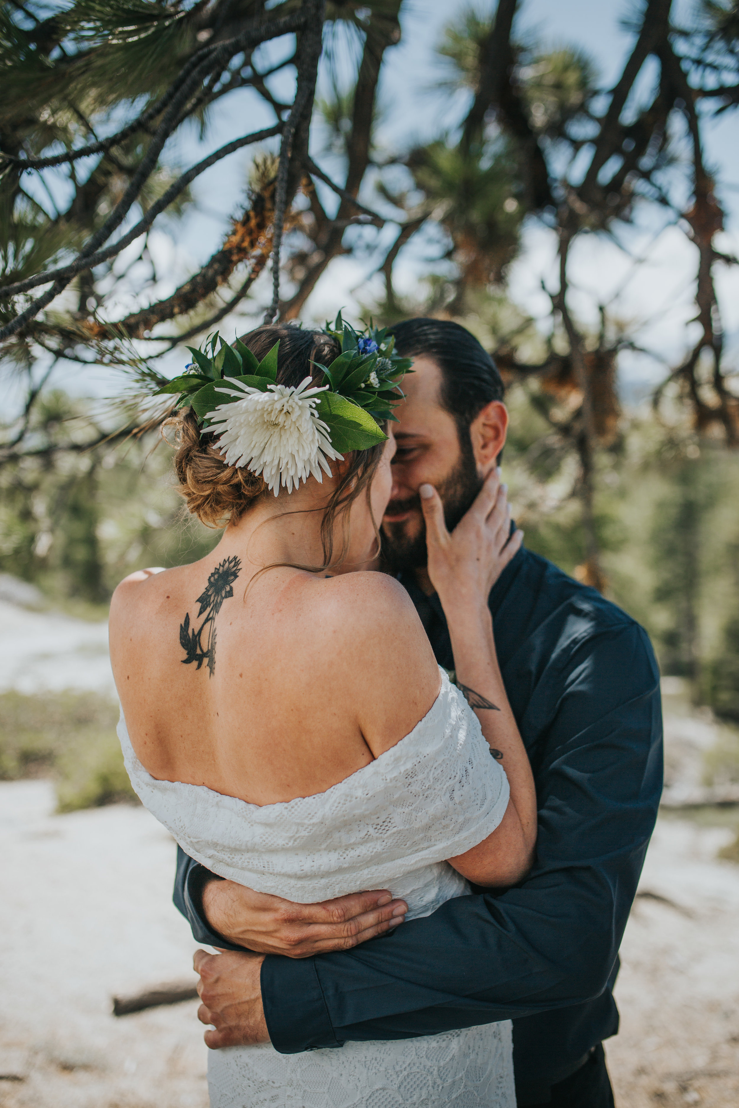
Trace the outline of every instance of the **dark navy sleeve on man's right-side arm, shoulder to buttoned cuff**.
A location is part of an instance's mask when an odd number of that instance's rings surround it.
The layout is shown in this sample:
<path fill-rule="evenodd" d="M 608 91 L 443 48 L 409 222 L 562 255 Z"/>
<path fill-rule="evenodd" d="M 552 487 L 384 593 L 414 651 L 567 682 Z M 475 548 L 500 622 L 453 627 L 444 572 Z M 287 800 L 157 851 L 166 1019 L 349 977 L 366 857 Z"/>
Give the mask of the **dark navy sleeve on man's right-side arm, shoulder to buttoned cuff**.
<path fill-rule="evenodd" d="M 261 988 L 278 1050 L 438 1034 L 603 993 L 661 791 L 659 675 L 629 623 L 575 650 L 556 683 L 530 749 L 538 840 L 527 879 L 448 901 L 351 951 L 269 955 Z"/>

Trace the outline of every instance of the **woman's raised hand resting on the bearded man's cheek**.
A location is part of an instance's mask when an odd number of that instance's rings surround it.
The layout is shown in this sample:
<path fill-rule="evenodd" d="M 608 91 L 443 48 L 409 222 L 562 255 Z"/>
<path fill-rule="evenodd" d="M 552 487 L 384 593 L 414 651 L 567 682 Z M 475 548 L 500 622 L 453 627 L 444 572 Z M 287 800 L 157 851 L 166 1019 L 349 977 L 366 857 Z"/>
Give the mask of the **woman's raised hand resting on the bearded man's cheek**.
<path fill-rule="evenodd" d="M 425 519 L 427 571 L 444 609 L 487 605 L 490 591 L 521 547 L 522 531 L 511 534 L 511 507 L 501 471 L 485 478 L 472 506 L 450 533 L 439 493 L 419 489 Z"/>

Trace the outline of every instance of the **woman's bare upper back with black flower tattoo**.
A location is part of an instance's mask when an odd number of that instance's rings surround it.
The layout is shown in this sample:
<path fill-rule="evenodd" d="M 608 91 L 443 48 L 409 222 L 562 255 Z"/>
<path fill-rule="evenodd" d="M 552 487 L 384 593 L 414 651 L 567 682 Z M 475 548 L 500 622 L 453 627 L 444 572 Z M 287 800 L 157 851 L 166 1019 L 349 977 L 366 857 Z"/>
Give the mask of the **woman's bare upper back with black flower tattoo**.
<path fill-rule="evenodd" d="M 247 591 L 255 572 L 227 533 L 199 562 L 127 577 L 111 659 L 153 777 L 269 804 L 372 761 L 423 718 L 440 681 L 392 578 L 280 567 Z"/>

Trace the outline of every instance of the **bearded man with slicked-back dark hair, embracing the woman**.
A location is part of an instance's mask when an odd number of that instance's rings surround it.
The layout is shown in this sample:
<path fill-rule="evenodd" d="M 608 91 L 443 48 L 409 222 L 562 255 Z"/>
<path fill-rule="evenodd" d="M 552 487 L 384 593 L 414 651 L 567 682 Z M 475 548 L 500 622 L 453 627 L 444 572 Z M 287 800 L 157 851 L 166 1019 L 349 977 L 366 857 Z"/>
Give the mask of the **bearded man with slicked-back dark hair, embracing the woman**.
<path fill-rule="evenodd" d="M 503 449 L 503 386 L 456 324 L 410 319 L 394 334 L 415 372 L 397 409 L 384 550 L 438 661 L 452 669 L 427 534 L 447 541 Z M 420 497 L 422 484 L 439 491 L 443 519 L 438 500 Z M 238 951 L 195 957 L 198 1016 L 216 1027 L 209 1046 L 269 1037 L 289 1054 L 512 1018 L 520 1108 L 613 1106 L 602 1042 L 618 1029 L 618 946 L 661 789 L 657 665 L 633 619 L 525 548 L 489 604 L 536 782 L 531 873 L 391 929 L 403 906 L 387 893 L 289 904 L 214 879 L 179 851 L 177 907 L 199 942 Z"/>

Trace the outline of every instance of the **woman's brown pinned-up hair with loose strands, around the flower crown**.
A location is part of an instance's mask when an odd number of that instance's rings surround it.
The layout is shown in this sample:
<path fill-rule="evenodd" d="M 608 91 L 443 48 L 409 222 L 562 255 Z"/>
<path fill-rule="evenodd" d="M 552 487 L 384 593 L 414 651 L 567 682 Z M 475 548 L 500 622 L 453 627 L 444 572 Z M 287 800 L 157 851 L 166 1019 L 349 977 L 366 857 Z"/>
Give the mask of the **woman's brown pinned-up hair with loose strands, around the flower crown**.
<path fill-rule="evenodd" d="M 261 360 L 278 339 L 278 384 L 297 387 L 306 377 L 311 377 L 319 383 L 322 375 L 311 362 L 329 366 L 341 353 L 340 345 L 330 335 L 281 324 L 257 327 L 244 335 L 242 342 Z M 218 432 L 201 434 L 201 424 L 192 408 L 185 408 L 171 417 L 163 424 L 163 428 L 166 427 L 174 428 L 174 469 L 179 481 L 179 493 L 187 511 L 196 515 L 201 523 L 217 529 L 228 523 L 238 523 L 258 500 L 271 495 L 264 479 L 247 466 L 226 465 L 217 448 Z M 349 464 L 332 492 L 324 515 L 321 538 L 325 566 L 319 568 L 339 564 L 346 556 L 349 506 L 362 492 L 369 504 L 369 488 L 382 456 L 382 449 L 380 443 L 345 456 Z M 345 523 L 342 550 L 335 558 L 333 522 L 341 516 Z M 374 530 L 379 542 L 377 525 Z"/>

